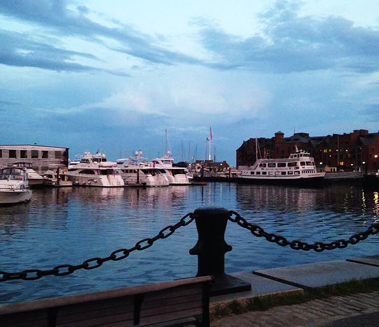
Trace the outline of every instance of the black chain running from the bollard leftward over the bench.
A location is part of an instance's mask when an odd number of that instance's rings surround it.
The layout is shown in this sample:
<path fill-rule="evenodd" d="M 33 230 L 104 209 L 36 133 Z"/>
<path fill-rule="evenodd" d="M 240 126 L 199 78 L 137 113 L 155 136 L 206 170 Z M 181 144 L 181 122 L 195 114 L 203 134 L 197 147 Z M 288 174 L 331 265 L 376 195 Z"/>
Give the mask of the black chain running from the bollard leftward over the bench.
<path fill-rule="evenodd" d="M 53 269 L 40 270 L 40 269 L 27 269 L 21 272 L 6 272 L 0 271 L 0 281 L 12 280 L 12 279 L 24 279 L 24 280 L 34 280 L 39 279 L 44 276 L 54 275 L 54 276 L 65 276 L 72 274 L 74 271 L 79 269 L 95 269 L 100 267 L 106 261 L 118 261 L 127 258 L 133 251 L 142 251 L 150 248 L 153 243 L 158 239 L 167 238 L 172 235 L 179 227 L 189 225 L 195 219 L 193 213 L 189 213 L 182 217 L 179 222 L 175 225 L 169 225 L 164 227 L 159 231 L 159 233 L 154 237 L 148 237 L 138 241 L 133 248 L 130 249 L 118 249 L 113 251 L 108 257 L 105 258 L 91 258 L 83 261 L 80 265 L 59 265 Z"/>

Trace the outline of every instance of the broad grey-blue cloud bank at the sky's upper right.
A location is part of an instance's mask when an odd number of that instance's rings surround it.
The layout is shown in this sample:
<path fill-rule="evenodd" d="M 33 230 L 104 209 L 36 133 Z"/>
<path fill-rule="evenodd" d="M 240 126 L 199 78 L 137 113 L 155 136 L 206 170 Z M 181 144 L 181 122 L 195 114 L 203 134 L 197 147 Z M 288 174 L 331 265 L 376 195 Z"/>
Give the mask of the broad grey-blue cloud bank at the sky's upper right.
<path fill-rule="evenodd" d="M 301 17 L 300 2 L 277 1 L 258 15 L 263 28 L 242 38 L 201 20 L 200 41 L 218 69 L 290 73 L 345 69 L 379 71 L 379 30 L 354 26 L 343 17 Z"/>

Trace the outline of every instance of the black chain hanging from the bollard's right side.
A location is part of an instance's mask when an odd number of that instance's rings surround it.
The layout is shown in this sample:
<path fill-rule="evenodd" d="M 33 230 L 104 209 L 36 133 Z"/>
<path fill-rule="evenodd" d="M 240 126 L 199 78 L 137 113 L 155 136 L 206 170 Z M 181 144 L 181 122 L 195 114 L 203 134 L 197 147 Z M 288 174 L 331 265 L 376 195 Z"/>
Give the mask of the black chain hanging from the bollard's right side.
<path fill-rule="evenodd" d="M 269 242 L 276 243 L 281 247 L 286 247 L 289 245 L 293 250 L 314 250 L 316 252 L 322 252 L 324 250 L 344 249 L 349 244 L 357 244 L 359 241 L 366 239 L 369 235 L 375 235 L 379 232 L 379 223 L 373 223 L 367 228 L 365 232 L 354 234 L 350 236 L 348 240 L 338 239 L 330 243 L 315 242 L 313 244 L 309 244 L 297 239 L 290 242 L 284 236 L 267 233 L 262 227 L 248 223 L 246 219 L 242 218 L 235 211 L 229 211 L 229 215 L 230 221 L 237 223 L 243 228 L 248 229 L 251 234 L 257 237 L 265 237 Z M 233 215 L 235 218 L 232 218 Z"/>

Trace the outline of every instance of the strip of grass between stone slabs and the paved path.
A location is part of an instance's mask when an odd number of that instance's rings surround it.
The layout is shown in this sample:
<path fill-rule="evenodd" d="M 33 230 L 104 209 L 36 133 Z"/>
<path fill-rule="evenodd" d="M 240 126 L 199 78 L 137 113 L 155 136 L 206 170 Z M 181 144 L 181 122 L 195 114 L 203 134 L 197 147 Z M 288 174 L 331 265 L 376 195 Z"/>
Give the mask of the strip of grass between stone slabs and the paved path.
<path fill-rule="evenodd" d="M 304 292 L 283 292 L 216 303 L 210 306 L 209 313 L 211 320 L 217 320 L 223 316 L 241 314 L 247 311 L 263 311 L 281 305 L 300 304 L 316 299 L 327 299 L 331 296 L 368 293 L 378 290 L 379 277 L 352 279 L 338 284 L 304 290 Z"/>

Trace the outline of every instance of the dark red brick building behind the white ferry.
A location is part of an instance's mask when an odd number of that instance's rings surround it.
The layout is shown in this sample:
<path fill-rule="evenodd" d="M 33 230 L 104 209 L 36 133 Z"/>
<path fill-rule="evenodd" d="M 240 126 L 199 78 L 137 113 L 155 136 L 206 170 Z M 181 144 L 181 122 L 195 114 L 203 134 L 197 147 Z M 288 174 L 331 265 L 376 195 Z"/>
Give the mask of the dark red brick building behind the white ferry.
<path fill-rule="evenodd" d="M 237 167 L 254 164 L 257 159 L 256 142 L 258 158 L 287 158 L 298 147 L 311 153 L 316 166 L 346 171 L 379 169 L 379 132 L 354 130 L 351 133 L 315 137 L 308 133 L 295 133 L 287 138 L 284 133 L 276 132 L 272 138 L 258 138 L 257 141 L 250 138 L 236 150 Z"/>

